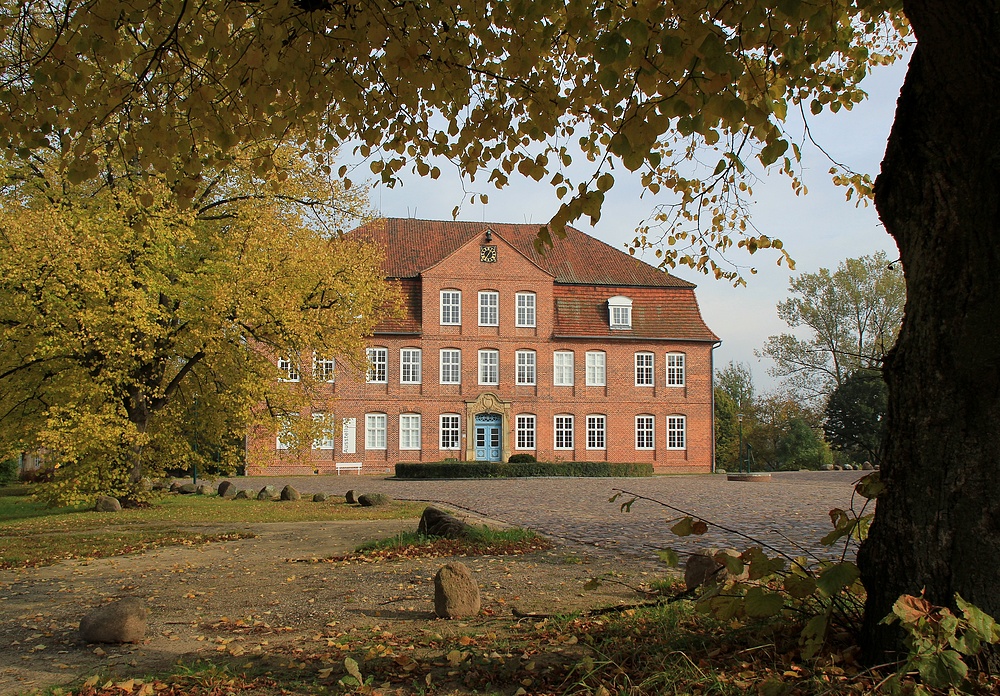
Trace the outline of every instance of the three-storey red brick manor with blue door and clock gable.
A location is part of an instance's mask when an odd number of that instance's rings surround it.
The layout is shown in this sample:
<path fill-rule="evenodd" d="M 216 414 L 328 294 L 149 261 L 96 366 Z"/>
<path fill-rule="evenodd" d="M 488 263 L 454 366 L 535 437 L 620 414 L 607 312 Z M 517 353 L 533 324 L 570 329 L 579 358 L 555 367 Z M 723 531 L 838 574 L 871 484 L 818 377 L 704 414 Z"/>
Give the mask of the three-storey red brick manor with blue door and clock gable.
<path fill-rule="evenodd" d="M 332 377 L 337 427 L 299 455 L 269 440 L 250 471 L 517 453 L 711 470 L 719 339 L 695 286 L 572 228 L 540 254 L 537 231 L 383 219 L 351 232 L 385 249 L 404 316 L 371 337 L 367 374 L 313 366 Z"/>

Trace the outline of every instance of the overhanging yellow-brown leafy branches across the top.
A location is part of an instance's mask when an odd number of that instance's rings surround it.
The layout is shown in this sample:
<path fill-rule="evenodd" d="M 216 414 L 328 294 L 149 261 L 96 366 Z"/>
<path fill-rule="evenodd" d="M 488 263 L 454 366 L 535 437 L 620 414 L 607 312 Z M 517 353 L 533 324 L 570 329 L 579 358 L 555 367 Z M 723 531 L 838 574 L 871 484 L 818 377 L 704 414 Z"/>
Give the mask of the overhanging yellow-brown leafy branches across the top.
<path fill-rule="evenodd" d="M 685 240 L 663 267 L 729 278 L 718 253 L 761 248 L 745 163 L 774 166 L 801 191 L 789 109 L 851 108 L 908 33 L 901 0 L 60 6 L 0 0 L 0 140 L 23 154 L 74 134 L 71 182 L 97 177 L 113 151 L 194 198 L 202 173 L 248 144 L 267 172 L 272 143 L 294 130 L 316 161 L 355 147 L 389 185 L 404 167 L 435 176 L 429 160 L 444 156 L 501 187 L 515 171 L 565 176 L 575 143 L 599 164 L 581 181 L 553 180 L 557 229 L 600 216 L 618 160 L 657 196 L 651 242 Z M 870 195 L 863 175 L 836 177 Z M 705 214 L 709 199 L 718 214 Z"/>

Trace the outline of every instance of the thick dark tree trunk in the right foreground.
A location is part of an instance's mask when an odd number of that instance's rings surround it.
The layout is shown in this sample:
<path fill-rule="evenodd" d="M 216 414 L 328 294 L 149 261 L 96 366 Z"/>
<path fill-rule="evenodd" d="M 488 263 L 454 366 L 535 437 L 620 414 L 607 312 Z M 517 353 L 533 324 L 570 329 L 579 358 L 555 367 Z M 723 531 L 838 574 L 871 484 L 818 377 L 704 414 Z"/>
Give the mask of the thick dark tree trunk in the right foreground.
<path fill-rule="evenodd" d="M 885 365 L 887 488 L 859 555 L 873 661 L 899 648 L 879 621 L 900 594 L 1000 617 L 1000 8 L 904 5 L 917 46 L 875 186 L 907 302 Z"/>

